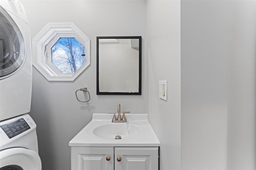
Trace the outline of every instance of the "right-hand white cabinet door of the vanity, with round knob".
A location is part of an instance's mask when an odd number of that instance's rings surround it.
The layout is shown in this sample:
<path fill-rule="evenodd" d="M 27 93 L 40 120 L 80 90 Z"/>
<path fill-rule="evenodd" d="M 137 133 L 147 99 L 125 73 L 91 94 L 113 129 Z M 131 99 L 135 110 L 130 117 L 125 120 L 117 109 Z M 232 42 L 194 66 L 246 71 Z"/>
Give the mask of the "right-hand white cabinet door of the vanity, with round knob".
<path fill-rule="evenodd" d="M 158 170 L 158 147 L 115 147 L 115 170 Z"/>

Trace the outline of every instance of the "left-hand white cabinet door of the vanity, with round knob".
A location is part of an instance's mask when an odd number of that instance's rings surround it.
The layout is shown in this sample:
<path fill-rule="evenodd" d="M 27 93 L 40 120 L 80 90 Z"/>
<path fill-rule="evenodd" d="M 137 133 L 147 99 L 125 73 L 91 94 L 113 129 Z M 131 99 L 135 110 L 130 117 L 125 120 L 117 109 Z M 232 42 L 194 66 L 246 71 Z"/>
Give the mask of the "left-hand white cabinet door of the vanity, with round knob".
<path fill-rule="evenodd" d="M 71 169 L 114 170 L 114 147 L 71 147 Z"/>

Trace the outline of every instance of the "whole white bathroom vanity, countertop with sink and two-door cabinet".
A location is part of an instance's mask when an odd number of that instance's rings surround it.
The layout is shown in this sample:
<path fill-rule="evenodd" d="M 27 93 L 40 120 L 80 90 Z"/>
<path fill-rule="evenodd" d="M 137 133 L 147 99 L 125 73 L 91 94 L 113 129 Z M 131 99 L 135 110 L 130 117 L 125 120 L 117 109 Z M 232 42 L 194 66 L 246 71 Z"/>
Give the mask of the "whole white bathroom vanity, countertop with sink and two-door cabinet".
<path fill-rule="evenodd" d="M 127 114 L 124 123 L 113 123 L 112 118 L 94 113 L 69 142 L 71 169 L 158 170 L 160 143 L 147 114 Z"/>

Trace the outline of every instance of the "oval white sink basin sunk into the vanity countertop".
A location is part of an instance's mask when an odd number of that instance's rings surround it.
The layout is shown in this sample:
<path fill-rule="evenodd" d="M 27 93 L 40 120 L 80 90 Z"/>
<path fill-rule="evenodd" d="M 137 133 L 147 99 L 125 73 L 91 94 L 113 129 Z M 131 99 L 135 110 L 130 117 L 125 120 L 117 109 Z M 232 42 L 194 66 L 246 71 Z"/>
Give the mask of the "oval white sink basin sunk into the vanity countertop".
<path fill-rule="evenodd" d="M 124 139 L 134 137 L 138 133 L 140 133 L 139 127 L 128 123 L 111 123 L 101 125 L 93 130 L 94 135 L 104 139 L 116 139 L 117 135 L 120 135 Z"/>

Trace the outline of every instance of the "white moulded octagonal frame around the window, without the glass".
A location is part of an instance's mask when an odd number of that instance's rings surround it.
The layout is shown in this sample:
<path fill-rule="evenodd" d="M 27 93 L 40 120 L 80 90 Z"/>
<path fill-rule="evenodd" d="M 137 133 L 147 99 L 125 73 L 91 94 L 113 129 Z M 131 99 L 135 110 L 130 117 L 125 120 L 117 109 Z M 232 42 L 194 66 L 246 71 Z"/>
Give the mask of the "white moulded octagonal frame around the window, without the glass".
<path fill-rule="evenodd" d="M 51 62 L 52 46 L 64 37 L 76 38 L 85 48 L 85 63 L 74 73 L 61 73 Z M 90 39 L 74 23 L 47 23 L 32 39 L 32 64 L 48 81 L 74 81 L 90 65 Z"/>

